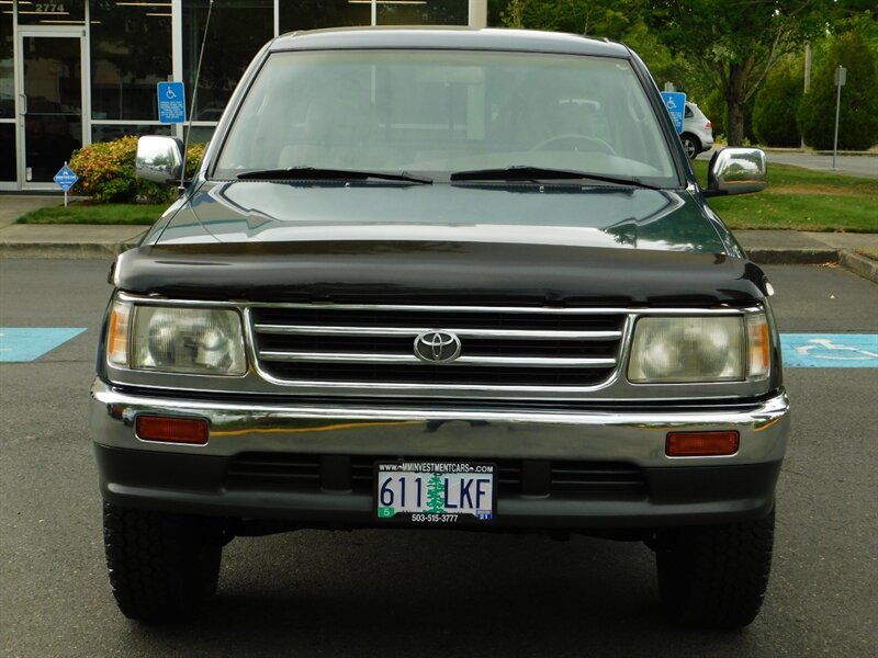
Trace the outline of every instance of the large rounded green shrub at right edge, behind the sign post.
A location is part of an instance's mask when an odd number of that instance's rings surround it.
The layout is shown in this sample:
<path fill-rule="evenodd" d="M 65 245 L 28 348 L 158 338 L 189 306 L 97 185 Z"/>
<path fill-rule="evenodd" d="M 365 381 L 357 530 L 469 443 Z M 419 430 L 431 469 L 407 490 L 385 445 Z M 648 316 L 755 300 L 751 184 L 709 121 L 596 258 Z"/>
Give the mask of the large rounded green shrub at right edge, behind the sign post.
<path fill-rule="evenodd" d="M 878 72 L 875 56 L 858 32 L 833 39 L 829 54 L 813 73 L 809 92 L 799 106 L 798 124 L 806 144 L 831 149 L 835 132 L 835 69 L 847 69 L 842 88 L 838 148 L 867 149 L 878 143 Z"/>

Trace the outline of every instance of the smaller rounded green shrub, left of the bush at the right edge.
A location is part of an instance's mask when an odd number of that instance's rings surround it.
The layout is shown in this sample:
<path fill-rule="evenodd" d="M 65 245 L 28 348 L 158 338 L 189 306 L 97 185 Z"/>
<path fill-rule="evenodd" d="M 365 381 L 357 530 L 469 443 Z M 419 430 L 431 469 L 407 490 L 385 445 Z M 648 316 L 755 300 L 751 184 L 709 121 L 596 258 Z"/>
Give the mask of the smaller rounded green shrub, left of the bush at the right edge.
<path fill-rule="evenodd" d="M 756 94 L 753 132 L 765 146 L 799 146 L 796 114 L 802 98 L 804 71 L 801 58 L 789 59 L 773 70 Z"/>

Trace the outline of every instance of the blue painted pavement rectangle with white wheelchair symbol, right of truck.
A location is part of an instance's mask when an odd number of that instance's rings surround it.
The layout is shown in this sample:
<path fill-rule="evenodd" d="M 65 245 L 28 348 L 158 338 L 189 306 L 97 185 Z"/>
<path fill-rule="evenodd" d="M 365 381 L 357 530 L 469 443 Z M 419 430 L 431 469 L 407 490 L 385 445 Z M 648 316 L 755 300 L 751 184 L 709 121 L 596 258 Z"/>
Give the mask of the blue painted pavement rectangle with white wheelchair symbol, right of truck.
<path fill-rule="evenodd" d="M 784 367 L 878 367 L 878 333 L 781 333 Z"/>

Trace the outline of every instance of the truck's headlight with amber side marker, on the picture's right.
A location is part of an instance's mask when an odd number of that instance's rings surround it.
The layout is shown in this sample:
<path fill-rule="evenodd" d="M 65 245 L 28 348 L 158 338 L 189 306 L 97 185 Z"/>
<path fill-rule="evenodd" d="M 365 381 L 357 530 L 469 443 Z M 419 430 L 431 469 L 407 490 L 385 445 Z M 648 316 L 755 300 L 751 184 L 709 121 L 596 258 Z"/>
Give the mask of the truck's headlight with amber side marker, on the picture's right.
<path fill-rule="evenodd" d="M 746 316 L 645 317 L 634 326 L 628 378 L 637 384 L 741 382 L 768 374 L 768 325 Z"/>

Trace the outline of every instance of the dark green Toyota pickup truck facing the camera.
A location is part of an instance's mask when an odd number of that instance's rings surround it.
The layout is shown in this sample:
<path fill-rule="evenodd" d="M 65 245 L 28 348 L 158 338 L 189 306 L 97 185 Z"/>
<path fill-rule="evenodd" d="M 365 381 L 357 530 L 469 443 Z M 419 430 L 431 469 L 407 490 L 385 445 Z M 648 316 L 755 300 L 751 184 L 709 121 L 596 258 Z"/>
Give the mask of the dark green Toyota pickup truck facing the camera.
<path fill-rule="evenodd" d="M 142 177 L 181 149 L 144 137 Z M 735 627 L 770 566 L 788 401 L 770 285 L 626 46 L 281 36 L 111 274 L 91 389 L 110 579 L 192 615 L 235 536 L 643 541 L 671 616 Z"/>

